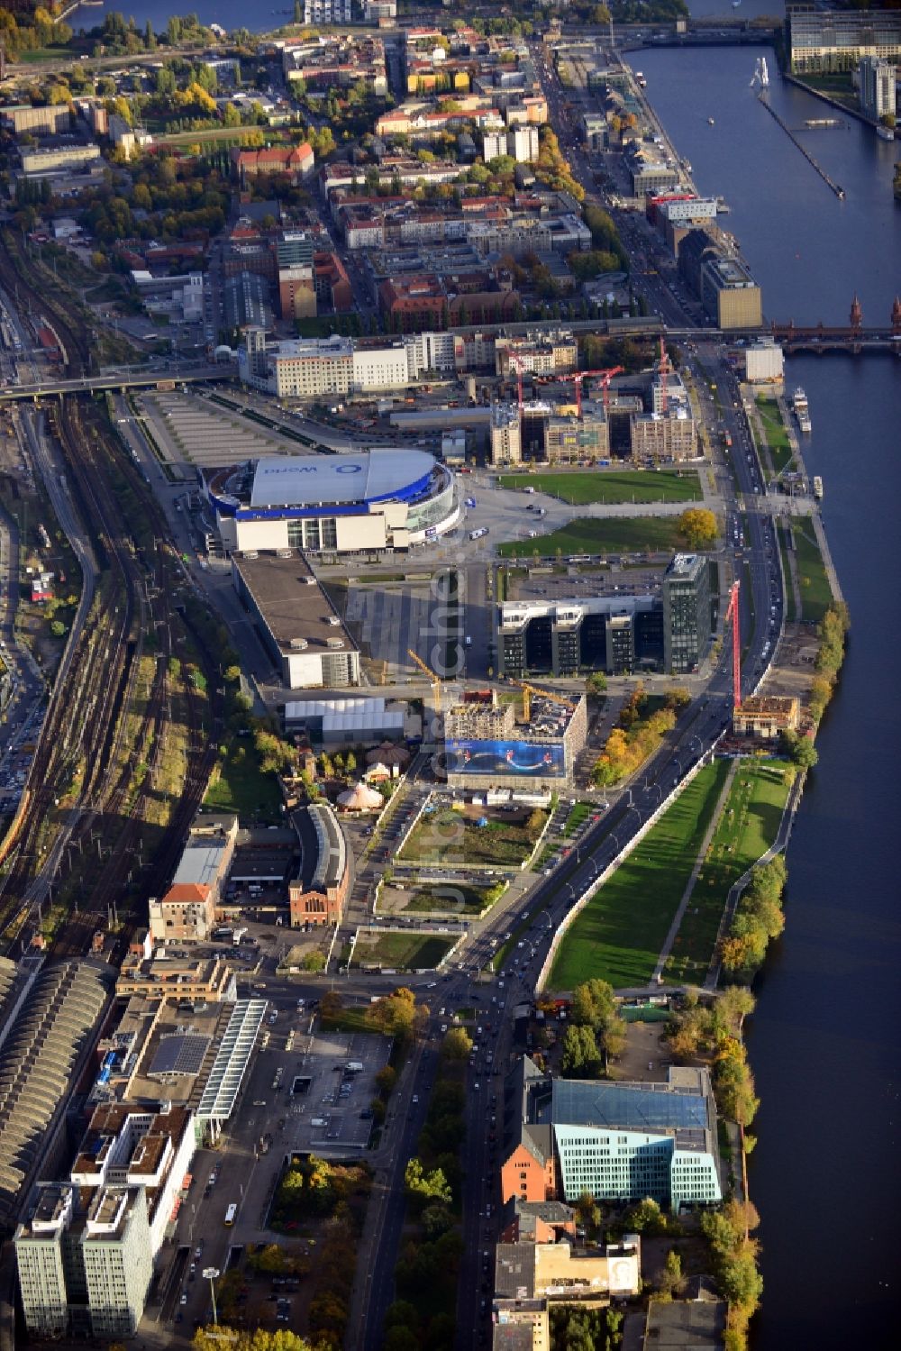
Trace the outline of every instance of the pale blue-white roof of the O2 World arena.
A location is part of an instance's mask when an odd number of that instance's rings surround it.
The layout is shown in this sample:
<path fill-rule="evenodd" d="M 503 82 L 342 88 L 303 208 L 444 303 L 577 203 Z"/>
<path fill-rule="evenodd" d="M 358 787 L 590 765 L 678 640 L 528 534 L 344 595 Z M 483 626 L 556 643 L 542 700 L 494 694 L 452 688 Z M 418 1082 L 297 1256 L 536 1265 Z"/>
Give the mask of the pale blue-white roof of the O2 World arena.
<path fill-rule="evenodd" d="M 386 501 L 398 493 L 407 493 L 420 481 L 427 481 L 434 467 L 434 457 L 421 450 L 276 455 L 257 461 L 250 505 Z"/>

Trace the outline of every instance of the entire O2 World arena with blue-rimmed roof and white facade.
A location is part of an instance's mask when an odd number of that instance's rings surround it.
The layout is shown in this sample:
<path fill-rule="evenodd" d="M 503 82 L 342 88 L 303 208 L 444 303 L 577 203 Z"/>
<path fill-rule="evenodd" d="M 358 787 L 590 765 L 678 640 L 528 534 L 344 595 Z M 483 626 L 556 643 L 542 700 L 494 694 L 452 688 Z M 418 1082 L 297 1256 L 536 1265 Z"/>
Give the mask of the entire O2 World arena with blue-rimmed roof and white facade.
<path fill-rule="evenodd" d="M 204 486 L 230 554 L 408 549 L 462 519 L 454 474 L 421 450 L 249 461 Z"/>

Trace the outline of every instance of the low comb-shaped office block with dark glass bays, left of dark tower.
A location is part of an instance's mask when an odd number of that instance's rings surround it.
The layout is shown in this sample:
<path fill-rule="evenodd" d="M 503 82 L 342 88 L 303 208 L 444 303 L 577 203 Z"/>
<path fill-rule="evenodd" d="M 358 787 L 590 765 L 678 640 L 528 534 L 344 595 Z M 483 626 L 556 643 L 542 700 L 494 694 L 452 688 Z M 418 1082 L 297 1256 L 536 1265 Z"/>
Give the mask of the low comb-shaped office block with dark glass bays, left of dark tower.
<path fill-rule="evenodd" d="M 659 667 L 659 597 L 650 590 L 503 601 L 496 607 L 497 673 L 521 680 L 586 670 L 627 676 L 640 666 Z"/>

